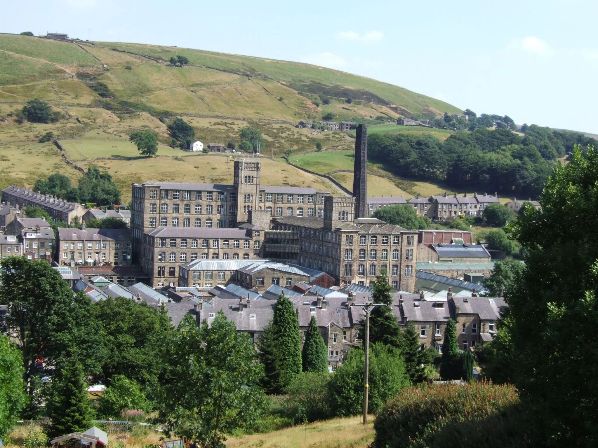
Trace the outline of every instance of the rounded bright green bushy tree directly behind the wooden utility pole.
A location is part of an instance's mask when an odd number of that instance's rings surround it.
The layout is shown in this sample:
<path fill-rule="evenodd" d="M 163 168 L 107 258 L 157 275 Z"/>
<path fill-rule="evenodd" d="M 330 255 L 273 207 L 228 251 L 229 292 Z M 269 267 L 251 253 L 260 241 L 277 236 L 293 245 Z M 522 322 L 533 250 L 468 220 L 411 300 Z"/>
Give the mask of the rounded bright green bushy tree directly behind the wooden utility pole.
<path fill-rule="evenodd" d="M 364 403 L 365 355 L 353 348 L 328 382 L 328 404 L 338 416 L 360 414 Z M 410 385 L 398 349 L 383 343 L 370 346 L 368 409 L 377 413 L 386 401 Z"/>

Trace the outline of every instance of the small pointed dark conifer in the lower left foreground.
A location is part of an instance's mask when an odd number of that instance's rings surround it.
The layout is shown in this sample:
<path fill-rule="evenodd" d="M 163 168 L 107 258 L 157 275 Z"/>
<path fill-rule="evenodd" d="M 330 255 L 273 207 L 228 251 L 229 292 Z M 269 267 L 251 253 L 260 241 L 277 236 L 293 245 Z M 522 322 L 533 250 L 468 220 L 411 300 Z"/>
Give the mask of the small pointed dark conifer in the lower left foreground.
<path fill-rule="evenodd" d="M 93 426 L 94 411 L 87 393 L 83 367 L 74 358 L 63 361 L 50 382 L 46 410 L 51 423 L 48 435 L 87 431 Z"/>

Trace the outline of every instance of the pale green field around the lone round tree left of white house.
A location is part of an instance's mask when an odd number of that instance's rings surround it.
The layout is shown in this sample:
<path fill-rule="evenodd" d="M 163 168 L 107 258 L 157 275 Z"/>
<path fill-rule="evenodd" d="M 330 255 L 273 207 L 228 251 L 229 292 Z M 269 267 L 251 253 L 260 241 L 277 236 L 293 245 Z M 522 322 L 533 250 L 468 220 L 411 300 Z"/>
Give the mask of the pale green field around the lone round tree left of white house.
<path fill-rule="evenodd" d="M 95 159 L 103 157 L 114 158 L 138 158 L 139 155 L 137 146 L 129 142 L 127 139 L 119 139 L 113 137 L 112 139 L 74 139 L 74 140 L 60 140 L 60 145 L 65 149 L 67 157 L 73 161 L 85 159 Z M 170 146 L 160 145 L 158 147 L 157 155 L 179 156 L 188 155 L 188 152 L 181 151 L 178 148 L 170 148 Z"/>

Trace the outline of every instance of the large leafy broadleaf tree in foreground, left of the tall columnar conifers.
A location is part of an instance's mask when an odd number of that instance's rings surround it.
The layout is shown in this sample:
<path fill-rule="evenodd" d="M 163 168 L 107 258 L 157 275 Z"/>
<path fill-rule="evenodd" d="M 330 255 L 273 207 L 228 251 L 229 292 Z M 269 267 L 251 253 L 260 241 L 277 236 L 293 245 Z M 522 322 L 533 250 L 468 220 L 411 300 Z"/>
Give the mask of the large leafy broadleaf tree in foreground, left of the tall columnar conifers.
<path fill-rule="evenodd" d="M 198 327 L 187 315 L 167 350 L 160 390 L 160 418 L 177 434 L 203 447 L 224 447 L 230 434 L 257 418 L 264 394 L 263 375 L 249 335 L 218 311 L 212 324 Z"/>

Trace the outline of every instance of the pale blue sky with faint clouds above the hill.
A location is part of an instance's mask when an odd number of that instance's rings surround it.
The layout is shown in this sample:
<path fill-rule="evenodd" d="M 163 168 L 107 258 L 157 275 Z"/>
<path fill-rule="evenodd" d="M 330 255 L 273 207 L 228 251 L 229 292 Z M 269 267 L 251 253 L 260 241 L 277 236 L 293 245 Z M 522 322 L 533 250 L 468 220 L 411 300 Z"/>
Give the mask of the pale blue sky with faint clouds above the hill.
<path fill-rule="evenodd" d="M 0 0 L 0 32 L 308 62 L 598 134 L 598 2 Z"/>

